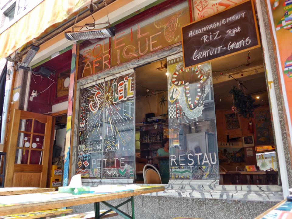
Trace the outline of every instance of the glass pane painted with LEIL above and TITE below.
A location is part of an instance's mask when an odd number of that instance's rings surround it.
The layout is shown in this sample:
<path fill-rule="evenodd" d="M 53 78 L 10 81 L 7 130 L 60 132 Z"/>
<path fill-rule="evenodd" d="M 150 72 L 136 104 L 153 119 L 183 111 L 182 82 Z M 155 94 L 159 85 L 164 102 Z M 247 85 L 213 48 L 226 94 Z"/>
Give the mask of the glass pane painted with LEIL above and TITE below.
<path fill-rule="evenodd" d="M 103 178 L 134 179 L 134 73 L 106 81 Z"/>

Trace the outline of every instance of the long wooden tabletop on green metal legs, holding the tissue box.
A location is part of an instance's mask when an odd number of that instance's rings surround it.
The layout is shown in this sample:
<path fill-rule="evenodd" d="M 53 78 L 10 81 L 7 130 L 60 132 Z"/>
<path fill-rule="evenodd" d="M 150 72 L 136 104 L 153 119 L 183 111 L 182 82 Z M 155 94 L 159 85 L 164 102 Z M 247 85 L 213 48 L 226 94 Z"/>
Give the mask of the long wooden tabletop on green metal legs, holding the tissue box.
<path fill-rule="evenodd" d="M 89 204 L 160 191 L 164 191 L 164 186 L 137 186 L 134 189 L 114 193 L 87 193 L 82 195 L 48 192 L 0 196 L 0 216 Z"/>

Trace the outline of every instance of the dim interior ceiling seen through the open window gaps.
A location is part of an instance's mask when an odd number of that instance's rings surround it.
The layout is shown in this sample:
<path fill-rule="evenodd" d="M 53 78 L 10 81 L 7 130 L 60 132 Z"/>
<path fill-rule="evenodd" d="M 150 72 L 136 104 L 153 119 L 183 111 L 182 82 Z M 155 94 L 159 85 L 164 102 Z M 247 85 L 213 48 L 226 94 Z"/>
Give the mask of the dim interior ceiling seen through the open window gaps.
<path fill-rule="evenodd" d="M 246 51 L 211 62 L 216 109 L 231 110 L 233 101 L 229 91 L 233 86 L 238 86 L 235 79 L 243 83 L 245 94 L 251 94 L 254 99 L 259 96 L 259 99 L 256 99 L 256 104 L 265 105 L 269 103 L 266 78 L 263 71 L 262 50 L 260 47 L 250 50 L 248 66 L 246 66 L 247 56 L 248 52 Z M 160 61 L 135 69 L 136 96 L 151 95 L 152 91 L 167 90 L 167 76 L 165 75 L 167 71 L 158 71 L 156 70 L 158 67 L 160 67 Z M 220 73 L 223 73 L 223 76 Z M 235 79 L 228 78 L 228 74 Z M 148 92 L 147 88 L 149 89 Z"/>

